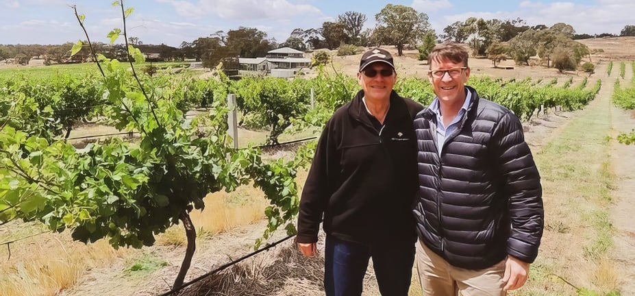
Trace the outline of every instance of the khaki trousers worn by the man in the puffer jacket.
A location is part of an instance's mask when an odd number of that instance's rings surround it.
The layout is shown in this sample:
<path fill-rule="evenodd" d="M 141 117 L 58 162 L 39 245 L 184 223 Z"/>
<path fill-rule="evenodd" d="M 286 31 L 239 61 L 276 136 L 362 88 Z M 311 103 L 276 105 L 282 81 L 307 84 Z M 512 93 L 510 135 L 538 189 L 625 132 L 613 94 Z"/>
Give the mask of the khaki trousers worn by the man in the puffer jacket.
<path fill-rule="evenodd" d="M 493 267 L 470 270 L 453 267 L 430 250 L 416 242 L 416 270 L 425 296 L 505 296 L 503 273 L 505 260 Z"/>

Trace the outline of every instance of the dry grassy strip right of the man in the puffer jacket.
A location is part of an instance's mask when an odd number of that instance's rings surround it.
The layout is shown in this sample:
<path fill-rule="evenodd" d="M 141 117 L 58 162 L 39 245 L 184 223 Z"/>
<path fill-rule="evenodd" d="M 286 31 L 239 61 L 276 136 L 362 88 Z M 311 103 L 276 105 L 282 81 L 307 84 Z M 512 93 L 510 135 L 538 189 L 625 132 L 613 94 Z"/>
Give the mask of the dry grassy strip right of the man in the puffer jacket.
<path fill-rule="evenodd" d="M 619 291 L 608 216 L 615 176 L 610 167 L 608 99 L 598 97 L 563 127 L 535 159 L 543 183 L 545 234 L 524 288 L 511 295 L 577 295 L 578 287 Z"/>

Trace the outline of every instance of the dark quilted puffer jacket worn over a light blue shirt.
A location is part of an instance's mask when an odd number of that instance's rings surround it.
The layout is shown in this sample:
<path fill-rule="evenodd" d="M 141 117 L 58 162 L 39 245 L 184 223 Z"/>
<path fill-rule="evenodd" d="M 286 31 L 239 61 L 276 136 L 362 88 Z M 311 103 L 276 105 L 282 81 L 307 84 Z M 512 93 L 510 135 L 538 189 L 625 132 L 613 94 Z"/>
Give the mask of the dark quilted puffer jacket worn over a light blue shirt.
<path fill-rule="evenodd" d="M 450 264 L 484 269 L 508 254 L 533 262 L 543 234 L 540 175 L 519 119 L 507 108 L 472 100 L 439 157 L 436 115 L 417 114 L 417 233 Z"/>

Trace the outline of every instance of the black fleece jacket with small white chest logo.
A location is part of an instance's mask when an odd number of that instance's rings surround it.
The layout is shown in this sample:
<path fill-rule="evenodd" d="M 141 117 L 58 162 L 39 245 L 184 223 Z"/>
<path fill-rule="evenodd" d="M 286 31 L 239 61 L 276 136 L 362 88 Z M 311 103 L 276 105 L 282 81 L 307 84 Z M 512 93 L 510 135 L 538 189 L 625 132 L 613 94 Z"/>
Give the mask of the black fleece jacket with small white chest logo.
<path fill-rule="evenodd" d="M 363 90 L 338 109 L 320 136 L 300 199 L 299 243 L 328 235 L 356 243 L 414 242 L 410 206 L 416 193 L 416 138 L 412 121 L 423 106 L 390 95 L 378 130 L 362 102 Z"/>

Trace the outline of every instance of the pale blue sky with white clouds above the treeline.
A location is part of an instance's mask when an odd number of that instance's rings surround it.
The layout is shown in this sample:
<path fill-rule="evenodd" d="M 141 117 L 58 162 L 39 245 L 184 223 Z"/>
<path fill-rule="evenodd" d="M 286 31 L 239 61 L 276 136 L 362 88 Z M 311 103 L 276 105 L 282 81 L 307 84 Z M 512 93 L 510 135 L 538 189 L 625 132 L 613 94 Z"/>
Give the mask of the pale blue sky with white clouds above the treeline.
<path fill-rule="evenodd" d="M 121 8 L 113 0 L 0 0 L 0 44 L 62 44 L 85 40 L 72 5 L 84 21 L 91 41 L 109 42 L 108 32 L 122 28 Z M 568 23 L 577 34 L 619 34 L 635 25 L 632 0 L 469 1 L 469 0 L 125 0 L 134 8 L 127 18 L 128 36 L 143 44 L 179 47 L 214 32 L 256 27 L 268 38 L 284 42 L 295 28 L 322 26 L 339 14 L 366 14 L 364 27 L 375 27 L 375 14 L 387 3 L 406 5 L 427 14 L 436 34 L 466 18 L 521 18 L 527 25 Z M 119 40 L 123 42 L 123 40 Z"/>

